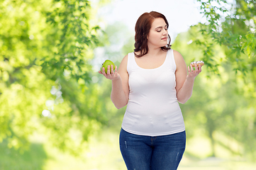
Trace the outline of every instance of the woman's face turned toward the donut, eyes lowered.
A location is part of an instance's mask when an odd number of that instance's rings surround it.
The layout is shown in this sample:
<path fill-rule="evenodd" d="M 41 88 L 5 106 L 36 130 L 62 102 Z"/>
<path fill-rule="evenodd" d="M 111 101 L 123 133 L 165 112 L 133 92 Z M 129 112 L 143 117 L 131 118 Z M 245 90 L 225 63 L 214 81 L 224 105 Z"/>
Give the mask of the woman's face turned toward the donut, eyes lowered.
<path fill-rule="evenodd" d="M 148 34 L 148 47 L 164 47 L 168 41 L 167 24 L 163 18 L 155 18 Z"/>

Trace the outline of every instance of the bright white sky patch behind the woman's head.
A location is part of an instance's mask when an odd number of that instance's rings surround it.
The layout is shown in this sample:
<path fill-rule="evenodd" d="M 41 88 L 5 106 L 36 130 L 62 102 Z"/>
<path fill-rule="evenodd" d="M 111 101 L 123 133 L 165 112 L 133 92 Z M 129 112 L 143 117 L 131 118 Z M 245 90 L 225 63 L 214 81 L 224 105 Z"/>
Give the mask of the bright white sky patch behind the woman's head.
<path fill-rule="evenodd" d="M 199 3 L 194 0 L 111 1 L 111 3 L 99 8 L 97 16 L 99 17 L 99 26 L 101 28 L 116 26 L 117 30 L 113 32 L 113 38 L 111 38 L 113 43 L 111 45 L 118 45 L 113 48 L 116 51 L 120 51 L 124 43 L 134 38 L 134 28 L 138 17 L 150 11 L 157 11 L 165 15 L 169 22 L 168 31 L 172 42 L 174 42 L 179 33 L 187 31 L 190 26 L 196 25 L 200 21 L 206 22 L 203 14 L 199 11 Z M 118 39 L 115 40 L 115 38 Z M 104 52 L 100 51 L 100 49 L 98 50 L 100 53 L 97 53 L 95 57 L 99 57 L 99 62 L 95 63 L 95 65 L 101 64 L 102 57 L 106 56 Z M 122 59 L 123 57 L 118 57 L 112 60 L 121 62 Z M 99 68 L 95 66 L 95 69 Z"/>

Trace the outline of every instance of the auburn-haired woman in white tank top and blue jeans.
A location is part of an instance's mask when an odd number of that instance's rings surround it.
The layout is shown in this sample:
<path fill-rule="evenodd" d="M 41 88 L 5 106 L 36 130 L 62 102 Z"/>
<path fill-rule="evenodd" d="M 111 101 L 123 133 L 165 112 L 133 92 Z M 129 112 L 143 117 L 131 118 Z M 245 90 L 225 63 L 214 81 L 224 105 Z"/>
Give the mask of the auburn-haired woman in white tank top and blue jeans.
<path fill-rule="evenodd" d="M 182 55 L 170 48 L 168 27 L 161 13 L 143 13 L 135 25 L 134 52 L 123 58 L 118 71 L 112 65 L 107 74 L 104 68 L 99 71 L 112 80 L 116 108 L 127 105 L 119 142 L 128 170 L 177 169 L 184 153 L 179 103 L 191 97 L 201 65 L 190 65 L 187 74 Z"/>

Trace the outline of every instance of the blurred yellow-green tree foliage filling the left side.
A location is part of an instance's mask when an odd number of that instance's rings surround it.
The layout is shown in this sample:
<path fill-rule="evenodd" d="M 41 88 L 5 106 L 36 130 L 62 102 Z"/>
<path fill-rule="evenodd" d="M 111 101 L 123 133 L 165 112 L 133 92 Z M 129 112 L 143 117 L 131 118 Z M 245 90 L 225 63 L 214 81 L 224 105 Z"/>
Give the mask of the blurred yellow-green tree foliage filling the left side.
<path fill-rule="evenodd" d="M 90 83 L 89 62 L 103 33 L 91 23 L 90 3 L 1 1 L 0 141 L 9 147 L 26 149 L 28 137 L 43 132 L 78 154 L 106 123 L 102 91 Z"/>

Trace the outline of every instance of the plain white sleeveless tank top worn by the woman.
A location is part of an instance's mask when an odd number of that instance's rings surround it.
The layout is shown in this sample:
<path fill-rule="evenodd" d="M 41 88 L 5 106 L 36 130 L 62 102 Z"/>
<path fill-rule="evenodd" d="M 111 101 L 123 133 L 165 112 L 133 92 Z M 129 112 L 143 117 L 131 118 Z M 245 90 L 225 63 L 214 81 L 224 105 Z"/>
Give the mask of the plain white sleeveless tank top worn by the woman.
<path fill-rule="evenodd" d="M 173 50 L 167 51 L 165 62 L 155 69 L 143 69 L 128 54 L 129 101 L 122 128 L 136 135 L 171 135 L 185 130 L 176 94 Z"/>

